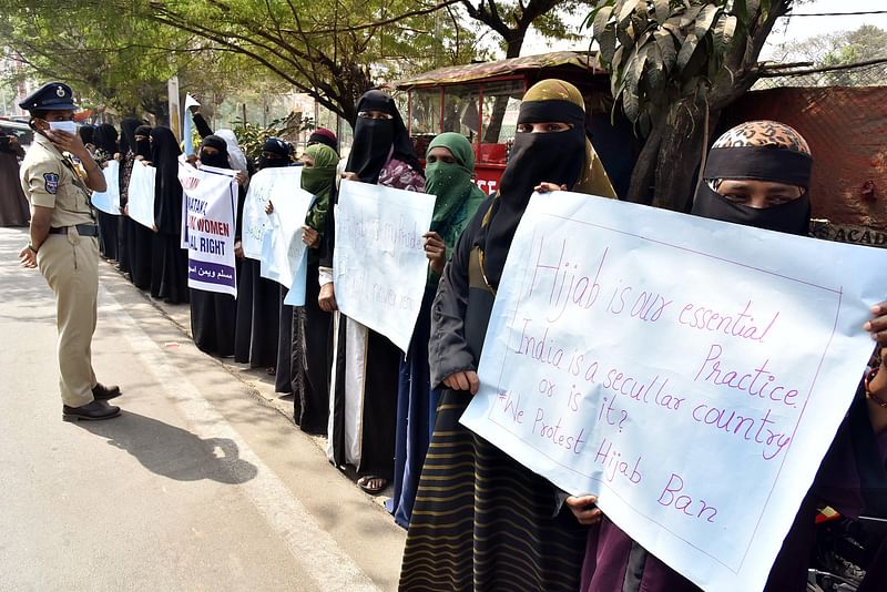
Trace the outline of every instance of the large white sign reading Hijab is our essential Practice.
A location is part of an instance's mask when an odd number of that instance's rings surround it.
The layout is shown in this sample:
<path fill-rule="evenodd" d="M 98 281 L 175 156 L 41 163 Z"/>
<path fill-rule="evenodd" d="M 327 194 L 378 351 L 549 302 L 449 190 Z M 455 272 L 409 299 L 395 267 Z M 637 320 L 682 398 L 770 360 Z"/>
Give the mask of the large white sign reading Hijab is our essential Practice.
<path fill-rule="evenodd" d="M 825 264 L 823 262 L 829 262 Z M 863 376 L 883 251 L 536 195 L 461 421 L 705 590 L 761 590 Z"/>

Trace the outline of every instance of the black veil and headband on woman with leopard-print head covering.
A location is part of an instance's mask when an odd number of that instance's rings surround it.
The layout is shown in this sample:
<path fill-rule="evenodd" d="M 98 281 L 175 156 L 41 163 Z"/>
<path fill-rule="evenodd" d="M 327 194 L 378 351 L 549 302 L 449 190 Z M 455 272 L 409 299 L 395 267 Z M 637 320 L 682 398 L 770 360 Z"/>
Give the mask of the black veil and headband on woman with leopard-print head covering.
<path fill-rule="evenodd" d="M 733 222 L 768 231 L 806 236 L 810 224 L 809 180 L 813 159 L 792 149 L 764 146 L 714 147 L 700 183 L 692 213 L 706 218 Z M 801 197 L 784 204 L 757 208 L 734 203 L 713 185 L 722 180 L 769 181 L 796 185 Z"/>

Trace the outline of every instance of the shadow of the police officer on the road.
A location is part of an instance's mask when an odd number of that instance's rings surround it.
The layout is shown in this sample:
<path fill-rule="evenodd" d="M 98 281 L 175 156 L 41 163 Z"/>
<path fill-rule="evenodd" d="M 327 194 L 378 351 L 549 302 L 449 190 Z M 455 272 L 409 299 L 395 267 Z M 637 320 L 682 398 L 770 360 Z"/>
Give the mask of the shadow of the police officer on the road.
<path fill-rule="evenodd" d="M 211 479 L 220 483 L 245 483 L 258 469 L 239 458 L 230 438 L 207 438 L 132 411 L 105 421 L 78 421 L 78 426 L 108 438 L 153 473 L 176 481 Z"/>

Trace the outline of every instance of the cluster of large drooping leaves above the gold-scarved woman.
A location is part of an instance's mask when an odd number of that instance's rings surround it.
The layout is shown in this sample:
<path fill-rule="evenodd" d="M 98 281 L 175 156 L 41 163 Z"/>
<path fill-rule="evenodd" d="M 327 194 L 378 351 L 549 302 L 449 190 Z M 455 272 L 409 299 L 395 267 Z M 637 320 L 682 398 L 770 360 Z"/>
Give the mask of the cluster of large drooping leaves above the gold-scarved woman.
<path fill-rule="evenodd" d="M 704 96 L 771 0 L 602 0 L 585 20 L 613 96 L 646 135 L 683 99 Z"/>

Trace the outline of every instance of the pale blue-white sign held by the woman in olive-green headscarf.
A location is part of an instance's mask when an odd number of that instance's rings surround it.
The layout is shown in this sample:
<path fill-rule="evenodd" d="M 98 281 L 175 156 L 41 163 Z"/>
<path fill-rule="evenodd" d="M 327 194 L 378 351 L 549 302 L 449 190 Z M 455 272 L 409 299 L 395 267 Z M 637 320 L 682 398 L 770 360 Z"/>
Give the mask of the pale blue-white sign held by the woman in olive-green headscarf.
<path fill-rule="evenodd" d="M 262 253 L 262 277 L 274 279 L 292 293 L 290 303 L 305 304 L 307 249 L 302 242 L 302 225 L 314 202 L 314 195 L 302 188 L 272 201 L 271 228 L 265 233 Z M 267 214 L 266 214 L 267 215 Z M 287 294 L 287 296 L 290 296 Z"/>

